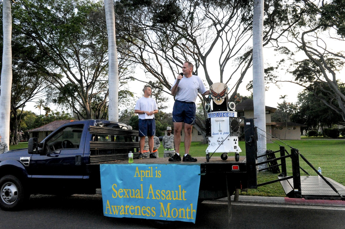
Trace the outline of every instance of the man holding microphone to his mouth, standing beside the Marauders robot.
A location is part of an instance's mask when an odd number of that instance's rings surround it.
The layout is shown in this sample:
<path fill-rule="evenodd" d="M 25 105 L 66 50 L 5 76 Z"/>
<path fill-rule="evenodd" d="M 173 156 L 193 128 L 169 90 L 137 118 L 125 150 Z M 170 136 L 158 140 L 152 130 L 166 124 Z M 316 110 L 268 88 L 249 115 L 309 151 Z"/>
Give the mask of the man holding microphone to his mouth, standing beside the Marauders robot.
<path fill-rule="evenodd" d="M 209 95 L 203 81 L 199 76 L 193 75 L 193 64 L 186 61 L 182 66 L 183 75 L 176 77 L 174 85 L 171 87 L 171 94 L 175 96 L 174 108 L 172 109 L 172 122 L 174 122 L 174 144 L 175 155 L 169 158 L 169 162 L 181 161 L 180 142 L 181 131 L 184 123 L 185 133 L 185 154 L 184 162 L 196 162 L 197 159 L 189 155 L 189 148 L 192 137 L 192 128 L 195 123 L 196 106 L 195 101 L 198 93 Z"/>

